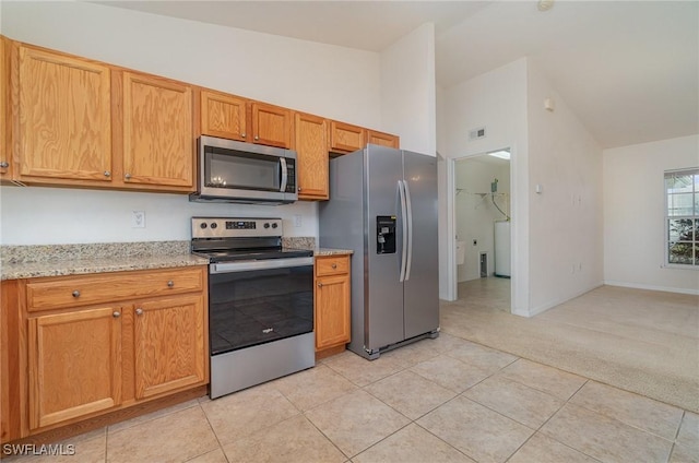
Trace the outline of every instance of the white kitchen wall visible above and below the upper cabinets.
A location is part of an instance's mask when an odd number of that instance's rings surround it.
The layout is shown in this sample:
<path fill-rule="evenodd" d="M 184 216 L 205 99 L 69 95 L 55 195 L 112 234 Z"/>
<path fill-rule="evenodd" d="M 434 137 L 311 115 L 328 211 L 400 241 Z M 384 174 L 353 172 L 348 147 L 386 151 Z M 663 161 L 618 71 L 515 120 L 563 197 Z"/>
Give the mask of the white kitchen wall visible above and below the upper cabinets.
<path fill-rule="evenodd" d="M 2 34 L 16 40 L 388 130 L 378 54 L 86 2 L 0 9 Z M 189 217 L 209 214 L 301 215 L 304 225 L 285 233 L 318 235 L 317 206 L 304 202 L 212 206 L 185 195 L 42 187 L 0 187 L 0 198 L 2 245 L 188 239 Z M 131 228 L 133 210 L 145 211 L 145 229 Z"/>

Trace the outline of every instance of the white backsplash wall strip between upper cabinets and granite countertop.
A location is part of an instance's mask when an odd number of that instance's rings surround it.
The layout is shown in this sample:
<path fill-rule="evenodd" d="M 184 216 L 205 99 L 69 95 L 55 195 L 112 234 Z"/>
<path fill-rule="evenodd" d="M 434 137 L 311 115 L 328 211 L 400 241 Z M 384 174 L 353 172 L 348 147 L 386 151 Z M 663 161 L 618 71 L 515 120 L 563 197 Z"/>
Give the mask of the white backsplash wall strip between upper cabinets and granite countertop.
<path fill-rule="evenodd" d="M 284 236 L 318 237 L 318 205 L 306 201 L 253 206 L 193 203 L 182 194 L 0 187 L 0 202 L 2 245 L 189 240 L 192 216 L 281 217 Z M 133 211 L 145 212 L 145 228 L 132 228 Z"/>

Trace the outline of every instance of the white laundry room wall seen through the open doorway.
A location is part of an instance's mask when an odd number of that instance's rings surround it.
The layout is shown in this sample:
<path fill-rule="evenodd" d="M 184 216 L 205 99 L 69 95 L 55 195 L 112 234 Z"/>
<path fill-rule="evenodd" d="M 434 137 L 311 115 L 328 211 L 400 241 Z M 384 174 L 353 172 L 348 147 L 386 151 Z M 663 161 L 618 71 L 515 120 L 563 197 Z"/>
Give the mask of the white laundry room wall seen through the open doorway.
<path fill-rule="evenodd" d="M 458 282 L 481 277 L 481 252 L 488 256 L 488 275 L 495 273 L 495 221 L 507 218 L 493 204 L 490 182 L 495 178 L 498 179 L 495 201 L 509 215 L 509 163 L 487 162 L 483 157 L 459 159 L 454 169 L 455 185 L 461 190 L 454 198 L 457 237 L 465 245 L 464 263 L 457 265 Z M 473 244 L 474 240 L 476 245 Z"/>

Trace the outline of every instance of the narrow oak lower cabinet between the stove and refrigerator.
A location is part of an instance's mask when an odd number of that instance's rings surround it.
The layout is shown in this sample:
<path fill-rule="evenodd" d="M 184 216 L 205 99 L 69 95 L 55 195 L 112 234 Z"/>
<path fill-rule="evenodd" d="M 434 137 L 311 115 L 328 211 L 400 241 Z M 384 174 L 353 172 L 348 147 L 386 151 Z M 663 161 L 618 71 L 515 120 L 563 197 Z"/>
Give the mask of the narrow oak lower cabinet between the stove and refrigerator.
<path fill-rule="evenodd" d="M 316 258 L 316 357 L 344 351 L 350 342 L 350 256 Z"/>

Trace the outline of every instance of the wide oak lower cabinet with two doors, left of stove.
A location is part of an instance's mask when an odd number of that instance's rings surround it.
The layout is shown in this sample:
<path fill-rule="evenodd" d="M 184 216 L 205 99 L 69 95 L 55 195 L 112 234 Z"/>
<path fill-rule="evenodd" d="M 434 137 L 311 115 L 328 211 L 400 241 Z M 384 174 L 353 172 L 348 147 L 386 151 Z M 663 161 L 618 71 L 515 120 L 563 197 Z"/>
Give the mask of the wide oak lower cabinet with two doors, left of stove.
<path fill-rule="evenodd" d="M 0 399 L 19 404 L 0 411 L 2 441 L 204 387 L 206 274 L 205 266 L 190 266 L 2 282 L 2 360 L 10 361 Z M 107 300 L 106 288 L 134 277 L 153 282 L 147 294 L 134 285 L 130 299 L 117 290 Z M 85 305 L 81 297 L 94 295 L 99 278 L 104 299 Z M 36 297 L 49 289 L 55 304 Z M 74 306 L 67 307 L 63 292 Z"/>

